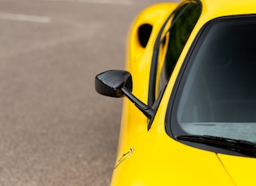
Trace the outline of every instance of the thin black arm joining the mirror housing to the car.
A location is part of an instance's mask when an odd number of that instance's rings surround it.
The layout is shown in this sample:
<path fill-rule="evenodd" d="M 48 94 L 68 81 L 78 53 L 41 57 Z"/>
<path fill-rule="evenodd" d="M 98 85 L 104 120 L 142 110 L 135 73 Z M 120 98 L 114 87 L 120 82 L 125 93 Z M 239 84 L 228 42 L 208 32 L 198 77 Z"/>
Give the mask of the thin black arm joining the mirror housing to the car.
<path fill-rule="evenodd" d="M 123 91 L 124 95 L 126 95 L 128 99 L 130 99 L 132 103 L 135 104 L 135 106 L 145 114 L 145 116 L 147 116 L 149 119 L 152 118 L 152 116 L 154 115 L 154 110 L 152 108 L 150 108 L 148 105 L 141 102 L 140 99 L 137 99 L 137 97 L 132 95 L 132 92 L 129 91 L 128 88 L 122 87 L 121 91 Z"/>

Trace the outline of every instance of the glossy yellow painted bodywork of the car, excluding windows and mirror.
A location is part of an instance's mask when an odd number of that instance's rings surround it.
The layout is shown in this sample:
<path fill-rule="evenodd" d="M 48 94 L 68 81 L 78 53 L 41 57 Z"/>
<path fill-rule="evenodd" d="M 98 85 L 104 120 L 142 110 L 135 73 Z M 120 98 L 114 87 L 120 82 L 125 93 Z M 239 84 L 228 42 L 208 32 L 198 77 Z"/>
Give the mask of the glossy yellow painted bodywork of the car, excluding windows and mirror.
<path fill-rule="evenodd" d="M 156 87 L 159 86 L 167 44 L 160 44 L 153 98 L 158 103 L 157 108 L 154 108 L 155 105 L 149 104 L 149 87 L 155 42 L 161 29 L 163 32 L 159 36 L 162 38 L 164 33 L 168 32 L 171 21 L 174 21 L 170 15 L 188 3 L 198 3 L 201 7 L 199 17 L 176 61 L 163 94 L 158 92 Z M 174 96 L 172 94 L 179 74 L 184 68 L 184 61 L 189 51 L 197 44 L 195 40 L 202 32 L 202 28 L 219 18 L 254 16 L 255 7 L 256 2 L 252 0 L 185 0 L 180 3 L 156 4 L 137 16 L 128 36 L 126 70 L 132 74 L 132 94 L 154 108 L 154 114 L 149 118 L 129 99 L 124 99 L 119 146 L 111 185 L 256 185 L 254 154 L 232 154 L 221 150 L 208 150 L 210 145 L 206 148 L 197 148 L 189 143 L 180 142 L 176 137 L 167 134 L 166 119 L 170 97 Z M 142 35 L 145 30 L 145 34 L 150 32 L 148 37 L 142 38 L 146 40 L 144 44 L 141 44 L 143 40 L 141 41 L 139 33 L 141 27 Z M 158 100 L 158 96 L 161 99 Z"/>

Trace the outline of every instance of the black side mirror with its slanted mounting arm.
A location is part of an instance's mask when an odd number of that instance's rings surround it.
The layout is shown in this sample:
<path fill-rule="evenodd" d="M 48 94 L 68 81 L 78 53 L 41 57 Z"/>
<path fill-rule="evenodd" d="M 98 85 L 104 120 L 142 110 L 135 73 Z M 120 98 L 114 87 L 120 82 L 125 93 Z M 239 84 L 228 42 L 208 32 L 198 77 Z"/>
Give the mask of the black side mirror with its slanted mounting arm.
<path fill-rule="evenodd" d="M 95 89 L 101 95 L 120 98 L 124 95 L 132 101 L 149 119 L 154 110 L 132 95 L 132 75 L 124 70 L 109 70 L 95 78 Z"/>

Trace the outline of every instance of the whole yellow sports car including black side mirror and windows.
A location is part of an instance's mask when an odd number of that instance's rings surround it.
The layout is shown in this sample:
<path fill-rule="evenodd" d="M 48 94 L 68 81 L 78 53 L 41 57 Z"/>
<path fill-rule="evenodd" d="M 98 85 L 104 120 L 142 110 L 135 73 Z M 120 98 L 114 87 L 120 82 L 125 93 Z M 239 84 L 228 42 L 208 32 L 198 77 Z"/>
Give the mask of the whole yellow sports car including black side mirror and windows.
<path fill-rule="evenodd" d="M 112 185 L 256 185 L 256 1 L 192 0 L 142 11 L 126 70 Z"/>

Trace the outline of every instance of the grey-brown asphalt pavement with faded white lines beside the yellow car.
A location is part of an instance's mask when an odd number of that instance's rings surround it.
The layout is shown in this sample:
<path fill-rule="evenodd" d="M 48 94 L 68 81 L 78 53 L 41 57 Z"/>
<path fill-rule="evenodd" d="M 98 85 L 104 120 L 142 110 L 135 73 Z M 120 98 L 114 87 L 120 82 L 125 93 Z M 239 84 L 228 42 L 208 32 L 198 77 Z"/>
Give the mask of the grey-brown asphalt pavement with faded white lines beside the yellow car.
<path fill-rule="evenodd" d="M 132 19 L 153 0 L 0 0 L 0 185 L 109 185 Z"/>

